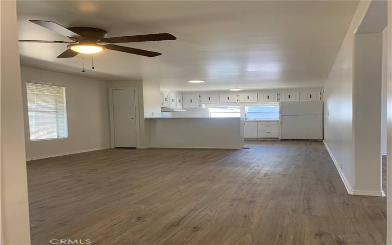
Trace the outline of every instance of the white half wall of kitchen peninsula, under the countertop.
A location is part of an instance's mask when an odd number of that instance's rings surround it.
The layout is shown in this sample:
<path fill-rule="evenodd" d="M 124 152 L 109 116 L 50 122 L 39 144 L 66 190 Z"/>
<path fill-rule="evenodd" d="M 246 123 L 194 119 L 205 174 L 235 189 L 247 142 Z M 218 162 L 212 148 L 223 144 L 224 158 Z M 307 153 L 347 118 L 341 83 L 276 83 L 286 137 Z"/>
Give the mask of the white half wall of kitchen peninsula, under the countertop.
<path fill-rule="evenodd" d="M 244 126 L 239 118 L 167 118 L 147 121 L 151 128 L 151 147 L 244 147 Z"/>

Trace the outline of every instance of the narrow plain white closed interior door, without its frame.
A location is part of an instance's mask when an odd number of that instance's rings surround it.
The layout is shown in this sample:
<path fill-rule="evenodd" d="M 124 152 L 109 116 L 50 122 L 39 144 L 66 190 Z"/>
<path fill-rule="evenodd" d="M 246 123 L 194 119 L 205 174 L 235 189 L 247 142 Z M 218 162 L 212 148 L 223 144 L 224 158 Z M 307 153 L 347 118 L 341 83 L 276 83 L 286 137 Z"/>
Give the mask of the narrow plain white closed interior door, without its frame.
<path fill-rule="evenodd" d="M 113 89 L 114 147 L 136 147 L 134 89 Z"/>

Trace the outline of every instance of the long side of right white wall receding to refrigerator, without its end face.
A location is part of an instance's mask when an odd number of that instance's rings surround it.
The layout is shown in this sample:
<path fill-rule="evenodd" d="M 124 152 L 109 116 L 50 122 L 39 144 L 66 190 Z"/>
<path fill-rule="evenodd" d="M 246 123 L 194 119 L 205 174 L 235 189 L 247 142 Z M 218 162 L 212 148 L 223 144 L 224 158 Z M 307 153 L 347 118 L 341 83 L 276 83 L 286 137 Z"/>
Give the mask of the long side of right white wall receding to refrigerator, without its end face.
<path fill-rule="evenodd" d="M 348 184 L 355 186 L 352 126 L 354 30 L 368 9 L 360 1 L 331 72 L 324 85 L 324 140 Z"/>

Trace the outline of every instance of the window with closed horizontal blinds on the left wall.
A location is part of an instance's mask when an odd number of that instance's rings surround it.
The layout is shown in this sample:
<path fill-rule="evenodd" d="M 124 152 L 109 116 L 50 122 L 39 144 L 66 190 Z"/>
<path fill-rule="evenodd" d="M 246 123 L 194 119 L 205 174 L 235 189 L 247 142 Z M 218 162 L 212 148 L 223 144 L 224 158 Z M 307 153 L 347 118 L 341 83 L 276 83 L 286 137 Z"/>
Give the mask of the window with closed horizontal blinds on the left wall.
<path fill-rule="evenodd" d="M 68 137 L 65 87 L 26 82 L 30 140 Z"/>

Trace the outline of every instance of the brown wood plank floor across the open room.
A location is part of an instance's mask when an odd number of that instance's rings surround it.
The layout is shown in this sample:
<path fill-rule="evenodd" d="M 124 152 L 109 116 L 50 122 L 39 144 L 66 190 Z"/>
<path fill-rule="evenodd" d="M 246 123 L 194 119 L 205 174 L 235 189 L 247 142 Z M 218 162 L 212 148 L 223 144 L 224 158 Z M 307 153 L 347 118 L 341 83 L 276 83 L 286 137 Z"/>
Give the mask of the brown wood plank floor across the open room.
<path fill-rule="evenodd" d="M 246 144 L 30 161 L 32 244 L 386 243 L 386 198 L 348 195 L 322 143 Z"/>

